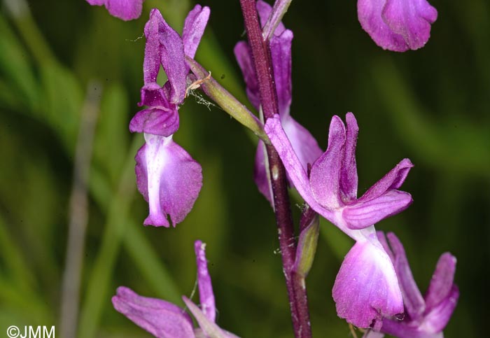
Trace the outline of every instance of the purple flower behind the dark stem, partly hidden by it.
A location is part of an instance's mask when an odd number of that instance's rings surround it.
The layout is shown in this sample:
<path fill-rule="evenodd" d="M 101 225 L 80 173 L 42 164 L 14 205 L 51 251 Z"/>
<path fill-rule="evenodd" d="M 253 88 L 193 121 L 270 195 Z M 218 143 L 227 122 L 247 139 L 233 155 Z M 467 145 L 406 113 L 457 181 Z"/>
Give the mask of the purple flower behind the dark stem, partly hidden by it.
<path fill-rule="evenodd" d="M 265 1 L 257 1 L 257 10 L 262 27 L 272 12 L 272 7 Z M 284 25 L 279 26 L 270 38 L 270 50 L 272 54 L 272 66 L 274 69 L 274 82 L 276 84 L 277 101 L 279 104 L 279 115 L 281 124 L 286 131 L 286 135 L 293 144 L 293 149 L 304 169 L 307 164 L 313 163 L 320 155 L 321 149 L 313 136 L 307 129 L 291 118 L 289 108 L 291 104 L 291 43 L 293 32 L 286 29 Z M 253 68 L 252 54 L 248 43 L 240 41 L 235 45 L 235 57 L 237 57 L 241 72 L 246 83 L 246 94 L 255 109 L 260 110 L 260 95 L 258 80 Z M 266 165 L 265 146 L 259 141 L 257 152 L 255 153 L 254 178 L 258 190 L 272 204 L 272 187 L 270 186 L 269 170 Z"/>

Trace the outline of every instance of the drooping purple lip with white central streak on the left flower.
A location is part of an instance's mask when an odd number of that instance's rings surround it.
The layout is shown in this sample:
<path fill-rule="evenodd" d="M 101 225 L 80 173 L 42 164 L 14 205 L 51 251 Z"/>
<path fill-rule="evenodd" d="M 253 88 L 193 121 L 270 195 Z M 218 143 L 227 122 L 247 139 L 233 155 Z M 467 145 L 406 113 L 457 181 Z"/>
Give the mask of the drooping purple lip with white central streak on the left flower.
<path fill-rule="evenodd" d="M 135 157 L 138 190 L 149 204 L 144 225 L 175 226 L 193 208 L 202 186 L 199 163 L 171 137 L 145 134 L 146 144 Z"/>

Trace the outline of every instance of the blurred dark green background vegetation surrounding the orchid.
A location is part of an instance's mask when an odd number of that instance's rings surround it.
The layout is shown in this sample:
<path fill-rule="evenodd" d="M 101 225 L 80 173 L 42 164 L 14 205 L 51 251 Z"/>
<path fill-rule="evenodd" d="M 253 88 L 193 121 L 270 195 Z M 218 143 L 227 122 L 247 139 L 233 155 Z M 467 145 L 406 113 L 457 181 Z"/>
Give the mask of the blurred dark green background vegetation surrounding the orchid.
<path fill-rule="evenodd" d="M 223 111 L 193 97 L 181 107 L 174 139 L 202 164 L 204 186 L 176 228 L 142 225 L 147 206 L 133 157 L 143 138 L 127 125 L 139 110 L 143 27 L 158 7 L 180 31 L 193 3 L 147 0 L 131 22 L 83 0 L 22 3 L 2 2 L 0 12 L 0 332 L 59 325 L 74 152 L 92 97 L 99 114 L 77 337 L 150 337 L 113 309 L 111 296 L 123 285 L 182 304 L 195 287 L 195 239 L 208 244 L 219 325 L 241 337 L 293 337 L 274 216 L 253 183 L 256 140 Z M 211 7 L 211 20 L 196 59 L 246 102 L 232 55 L 244 38 L 239 1 L 200 3 Z M 431 3 L 439 18 L 430 41 L 398 54 L 378 48 L 360 28 L 356 1 L 293 1 L 284 19 L 295 34 L 291 111 L 323 148 L 331 116 L 356 114 L 359 194 L 402 157 L 414 162 L 403 185 L 414 204 L 377 228 L 398 234 L 422 291 L 439 255 L 456 255 L 461 297 L 445 336 L 484 337 L 490 5 Z M 322 221 L 307 279 L 316 337 L 350 335 L 331 289 L 351 244 Z"/>

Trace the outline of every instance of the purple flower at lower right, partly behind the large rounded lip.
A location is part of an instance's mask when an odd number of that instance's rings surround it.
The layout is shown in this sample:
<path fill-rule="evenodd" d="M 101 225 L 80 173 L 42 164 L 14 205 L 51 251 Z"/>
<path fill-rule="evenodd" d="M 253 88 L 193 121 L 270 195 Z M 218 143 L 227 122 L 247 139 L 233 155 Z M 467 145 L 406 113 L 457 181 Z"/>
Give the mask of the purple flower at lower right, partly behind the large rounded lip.
<path fill-rule="evenodd" d="M 400 239 L 392 232 L 386 235 L 388 241 L 383 232 L 377 235 L 395 266 L 405 303 L 405 318 L 383 318 L 380 332 L 370 330 L 364 338 L 381 338 L 384 333 L 400 338 L 444 337 L 442 330 L 449 322 L 459 297 L 458 287 L 454 284 L 456 258 L 450 253 L 440 256 L 427 293 L 422 297 Z"/>

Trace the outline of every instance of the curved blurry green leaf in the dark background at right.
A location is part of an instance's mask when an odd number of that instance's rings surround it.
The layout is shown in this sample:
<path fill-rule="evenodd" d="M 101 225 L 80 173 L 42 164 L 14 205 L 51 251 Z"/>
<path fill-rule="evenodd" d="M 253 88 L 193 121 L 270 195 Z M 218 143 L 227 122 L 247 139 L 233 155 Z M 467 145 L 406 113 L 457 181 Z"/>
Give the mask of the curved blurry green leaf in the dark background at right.
<path fill-rule="evenodd" d="M 372 72 L 379 94 L 392 112 L 389 116 L 414 152 L 440 169 L 490 173 L 490 147 L 482 146 L 490 142 L 486 128 L 470 125 L 462 118 L 431 121 L 388 58 L 375 64 Z"/>

